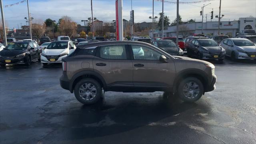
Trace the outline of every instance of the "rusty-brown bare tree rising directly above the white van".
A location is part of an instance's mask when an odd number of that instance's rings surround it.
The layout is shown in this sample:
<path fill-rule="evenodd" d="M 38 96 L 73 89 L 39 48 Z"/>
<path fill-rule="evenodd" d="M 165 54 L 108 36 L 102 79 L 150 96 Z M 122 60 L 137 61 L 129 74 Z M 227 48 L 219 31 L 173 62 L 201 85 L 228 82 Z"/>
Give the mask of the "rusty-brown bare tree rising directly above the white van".
<path fill-rule="evenodd" d="M 60 31 L 66 36 L 72 37 L 76 34 L 76 22 L 68 16 L 62 16 L 60 20 Z"/>

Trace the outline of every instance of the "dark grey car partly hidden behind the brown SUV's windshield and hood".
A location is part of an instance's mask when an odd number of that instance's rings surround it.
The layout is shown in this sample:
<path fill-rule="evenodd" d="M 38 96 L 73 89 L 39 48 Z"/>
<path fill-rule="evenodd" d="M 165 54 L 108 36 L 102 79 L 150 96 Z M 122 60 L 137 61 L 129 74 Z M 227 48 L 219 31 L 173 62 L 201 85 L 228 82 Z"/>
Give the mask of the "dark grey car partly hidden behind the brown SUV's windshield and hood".
<path fill-rule="evenodd" d="M 152 45 L 172 56 L 183 56 L 183 50 L 172 40 L 156 40 L 152 42 Z"/>

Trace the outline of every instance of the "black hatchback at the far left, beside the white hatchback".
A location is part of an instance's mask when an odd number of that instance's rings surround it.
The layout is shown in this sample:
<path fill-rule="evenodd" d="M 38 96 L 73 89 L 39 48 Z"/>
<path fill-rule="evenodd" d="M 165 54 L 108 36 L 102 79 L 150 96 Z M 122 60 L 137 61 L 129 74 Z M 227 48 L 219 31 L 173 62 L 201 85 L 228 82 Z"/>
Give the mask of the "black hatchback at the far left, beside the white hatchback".
<path fill-rule="evenodd" d="M 33 42 L 13 42 L 0 51 L 0 65 L 5 64 L 26 64 L 39 60 L 40 53 Z"/>

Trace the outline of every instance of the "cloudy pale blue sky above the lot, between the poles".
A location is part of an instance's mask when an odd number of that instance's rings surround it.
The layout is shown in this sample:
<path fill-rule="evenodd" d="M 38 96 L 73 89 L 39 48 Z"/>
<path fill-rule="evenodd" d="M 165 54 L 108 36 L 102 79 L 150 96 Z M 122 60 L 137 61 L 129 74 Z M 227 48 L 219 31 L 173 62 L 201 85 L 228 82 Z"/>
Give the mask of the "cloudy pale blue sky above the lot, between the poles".
<path fill-rule="evenodd" d="M 22 0 L 2 0 L 3 5 L 14 4 Z M 176 2 L 176 0 L 166 0 Z M 195 2 L 200 0 L 180 0 L 180 2 Z M 209 4 L 204 9 L 204 14 L 208 14 L 210 20 L 210 12 L 214 11 L 218 15 L 219 0 L 211 0 L 198 4 L 180 4 L 180 15 L 183 21 L 196 19 L 201 21 L 201 6 Z M 29 0 L 30 13 L 36 20 L 46 20 L 51 18 L 58 21 L 61 16 L 70 16 L 72 20 L 78 24 L 82 24 L 81 20 L 87 20 L 91 16 L 90 0 Z M 98 20 L 110 22 L 115 20 L 115 0 L 92 0 L 93 15 Z M 134 10 L 135 22 L 151 22 L 148 19 L 152 16 L 152 0 L 123 0 L 123 18 L 129 20 L 130 10 Z M 154 15 L 162 12 L 162 2 L 154 0 Z M 164 3 L 164 13 L 173 21 L 176 17 L 176 4 L 168 2 Z M 221 14 L 224 14 L 223 21 L 234 20 L 240 17 L 254 16 L 256 17 L 256 0 L 222 0 Z M 18 28 L 20 23 L 26 25 L 24 17 L 28 17 L 27 3 L 18 4 L 8 8 L 4 8 L 4 17 L 9 28 Z M 159 16 L 158 16 L 159 18 Z M 214 18 L 213 21 L 216 21 Z M 204 18 L 205 21 L 205 18 Z"/>

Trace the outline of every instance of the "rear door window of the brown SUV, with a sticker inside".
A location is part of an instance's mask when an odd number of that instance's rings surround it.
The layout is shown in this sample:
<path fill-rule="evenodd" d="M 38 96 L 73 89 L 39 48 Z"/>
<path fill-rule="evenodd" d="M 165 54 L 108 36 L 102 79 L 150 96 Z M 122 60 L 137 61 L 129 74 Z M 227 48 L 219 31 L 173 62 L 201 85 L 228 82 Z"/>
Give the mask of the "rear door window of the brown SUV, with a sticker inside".
<path fill-rule="evenodd" d="M 126 60 L 126 48 L 123 44 L 100 47 L 100 58 Z"/>

